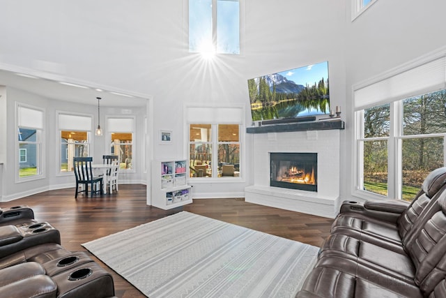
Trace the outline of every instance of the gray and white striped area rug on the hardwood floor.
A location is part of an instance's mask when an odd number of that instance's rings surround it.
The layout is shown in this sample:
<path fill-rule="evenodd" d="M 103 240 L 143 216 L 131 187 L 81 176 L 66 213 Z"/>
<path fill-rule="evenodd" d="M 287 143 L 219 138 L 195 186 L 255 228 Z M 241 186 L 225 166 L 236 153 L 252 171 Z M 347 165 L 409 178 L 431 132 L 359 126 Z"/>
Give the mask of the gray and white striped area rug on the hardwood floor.
<path fill-rule="evenodd" d="M 294 297 L 318 248 L 186 211 L 82 244 L 156 297 Z"/>

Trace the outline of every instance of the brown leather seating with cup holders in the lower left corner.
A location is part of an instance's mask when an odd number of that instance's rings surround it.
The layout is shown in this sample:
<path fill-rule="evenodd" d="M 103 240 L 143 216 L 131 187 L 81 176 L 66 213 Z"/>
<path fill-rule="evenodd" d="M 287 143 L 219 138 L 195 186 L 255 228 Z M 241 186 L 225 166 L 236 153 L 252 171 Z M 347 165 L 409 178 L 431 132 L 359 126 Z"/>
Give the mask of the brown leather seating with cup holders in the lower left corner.
<path fill-rule="evenodd" d="M 61 246 L 59 230 L 29 207 L 0 209 L 0 297 L 114 297 L 111 274 Z"/>

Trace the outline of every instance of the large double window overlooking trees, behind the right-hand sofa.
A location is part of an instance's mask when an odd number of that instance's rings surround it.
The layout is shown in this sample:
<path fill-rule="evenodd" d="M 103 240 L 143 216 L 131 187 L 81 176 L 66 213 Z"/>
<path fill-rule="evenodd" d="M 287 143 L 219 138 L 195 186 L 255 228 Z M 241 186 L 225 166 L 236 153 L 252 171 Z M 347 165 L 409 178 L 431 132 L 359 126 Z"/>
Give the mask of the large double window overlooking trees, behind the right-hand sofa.
<path fill-rule="evenodd" d="M 445 57 L 356 89 L 357 191 L 412 200 L 445 165 Z"/>

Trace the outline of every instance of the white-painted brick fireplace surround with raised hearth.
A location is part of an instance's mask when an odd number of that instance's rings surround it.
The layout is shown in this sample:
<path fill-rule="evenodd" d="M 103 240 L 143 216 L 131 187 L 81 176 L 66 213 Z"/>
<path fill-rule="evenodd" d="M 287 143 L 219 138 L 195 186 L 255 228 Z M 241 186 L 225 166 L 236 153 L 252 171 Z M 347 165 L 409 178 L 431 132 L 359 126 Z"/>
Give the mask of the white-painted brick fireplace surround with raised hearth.
<path fill-rule="evenodd" d="M 247 202 L 329 218 L 337 215 L 340 193 L 339 128 L 314 131 L 273 131 L 254 133 L 253 137 L 254 184 L 245 188 Z M 316 190 L 271 185 L 270 154 L 277 152 L 316 154 Z M 288 171 L 289 175 L 300 175 L 299 170 Z M 287 174 L 279 175 L 286 177 Z"/>

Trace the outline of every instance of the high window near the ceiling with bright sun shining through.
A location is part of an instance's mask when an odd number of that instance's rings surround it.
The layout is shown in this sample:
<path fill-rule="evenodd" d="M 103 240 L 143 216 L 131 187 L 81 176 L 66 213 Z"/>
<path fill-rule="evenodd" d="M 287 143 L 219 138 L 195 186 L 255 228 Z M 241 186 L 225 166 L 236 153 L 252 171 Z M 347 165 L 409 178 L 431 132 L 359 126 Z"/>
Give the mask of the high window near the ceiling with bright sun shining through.
<path fill-rule="evenodd" d="M 240 2 L 189 1 L 189 52 L 240 54 Z"/>

